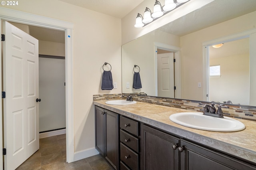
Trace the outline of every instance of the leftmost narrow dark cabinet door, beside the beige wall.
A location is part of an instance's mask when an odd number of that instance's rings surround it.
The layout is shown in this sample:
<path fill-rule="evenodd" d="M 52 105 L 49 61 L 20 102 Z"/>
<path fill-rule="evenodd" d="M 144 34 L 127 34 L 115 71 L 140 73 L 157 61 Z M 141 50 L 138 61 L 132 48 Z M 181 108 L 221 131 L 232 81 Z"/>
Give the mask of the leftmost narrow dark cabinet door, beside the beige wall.
<path fill-rule="evenodd" d="M 95 147 L 104 156 L 104 110 L 95 106 Z"/>

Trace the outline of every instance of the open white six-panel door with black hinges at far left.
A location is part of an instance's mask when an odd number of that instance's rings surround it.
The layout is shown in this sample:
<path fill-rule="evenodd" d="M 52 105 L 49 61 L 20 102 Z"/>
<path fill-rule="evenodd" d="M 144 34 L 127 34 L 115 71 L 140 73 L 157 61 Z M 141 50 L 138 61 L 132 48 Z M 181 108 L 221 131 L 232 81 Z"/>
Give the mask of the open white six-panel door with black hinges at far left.
<path fill-rule="evenodd" d="M 4 169 L 39 149 L 38 40 L 3 22 Z"/>

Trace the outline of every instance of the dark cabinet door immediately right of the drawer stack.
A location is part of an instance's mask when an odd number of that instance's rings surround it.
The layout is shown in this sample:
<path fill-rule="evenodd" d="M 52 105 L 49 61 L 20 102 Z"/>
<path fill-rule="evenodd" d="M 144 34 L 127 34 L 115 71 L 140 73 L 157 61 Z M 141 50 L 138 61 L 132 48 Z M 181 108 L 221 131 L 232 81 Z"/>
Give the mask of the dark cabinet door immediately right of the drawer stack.
<path fill-rule="evenodd" d="M 178 138 L 145 125 L 140 134 L 142 170 L 178 170 Z"/>

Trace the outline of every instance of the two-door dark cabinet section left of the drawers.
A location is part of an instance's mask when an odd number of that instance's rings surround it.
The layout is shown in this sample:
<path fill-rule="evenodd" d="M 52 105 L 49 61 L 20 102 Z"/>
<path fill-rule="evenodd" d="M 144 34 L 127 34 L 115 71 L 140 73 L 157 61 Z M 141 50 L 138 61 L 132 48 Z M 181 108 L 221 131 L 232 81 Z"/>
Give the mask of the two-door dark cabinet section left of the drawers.
<path fill-rule="evenodd" d="M 96 149 L 112 166 L 119 169 L 119 115 L 95 106 Z"/>

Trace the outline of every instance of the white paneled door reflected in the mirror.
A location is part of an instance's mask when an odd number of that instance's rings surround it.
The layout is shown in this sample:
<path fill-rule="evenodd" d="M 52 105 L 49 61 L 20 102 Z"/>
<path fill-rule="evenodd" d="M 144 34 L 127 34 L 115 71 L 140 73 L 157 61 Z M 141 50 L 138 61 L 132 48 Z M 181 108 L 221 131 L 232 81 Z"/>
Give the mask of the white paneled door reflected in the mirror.
<path fill-rule="evenodd" d="M 158 96 L 174 98 L 174 53 L 157 55 Z"/>

